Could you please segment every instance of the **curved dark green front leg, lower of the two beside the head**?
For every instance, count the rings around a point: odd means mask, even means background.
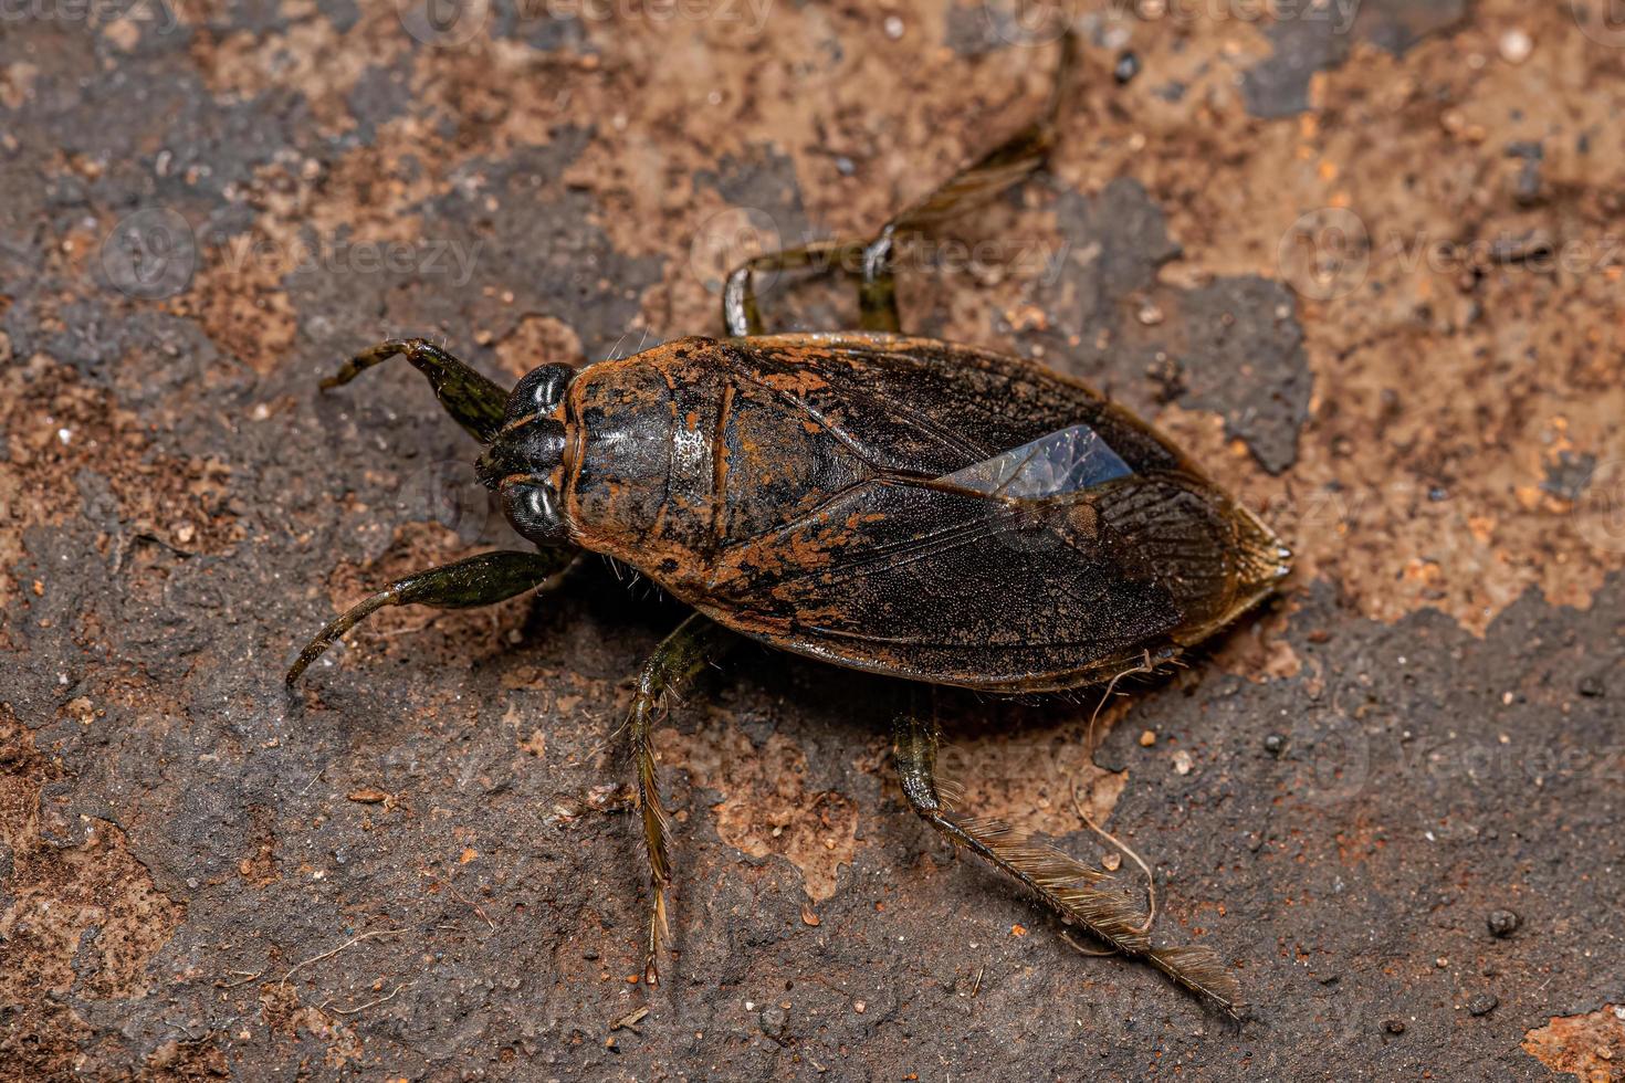
[[[533,586],[541,586],[546,580],[567,568],[574,559],[574,549],[548,549],[541,552],[500,549],[408,575],[405,580],[395,580],[317,632],[315,638],[299,651],[299,658],[288,669],[284,684],[292,692],[294,684],[310,667],[310,662],[322,658],[327,648],[333,646],[341,635],[385,606],[432,606],[436,609],[494,606],[496,602],[523,594]]]

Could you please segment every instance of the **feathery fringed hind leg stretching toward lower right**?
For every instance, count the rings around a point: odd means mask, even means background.
[[[946,807],[936,778],[938,729],[904,716],[894,727],[897,779],[910,807],[957,846],[1014,877],[1063,919],[1112,948],[1146,958],[1180,986],[1240,1016],[1240,986],[1207,947],[1152,948],[1139,904],[1108,874],[1045,846],[1011,825]]]

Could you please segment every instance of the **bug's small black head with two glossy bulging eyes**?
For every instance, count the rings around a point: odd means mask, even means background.
[[[559,507],[564,477],[564,391],[575,370],[569,365],[533,369],[509,395],[502,427],[476,469],[479,481],[499,494],[502,513],[520,537],[538,546],[569,542],[569,524]]]

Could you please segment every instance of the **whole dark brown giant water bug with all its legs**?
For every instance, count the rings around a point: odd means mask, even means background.
[[[543,365],[512,391],[422,339],[388,341],[323,383],[405,356],[486,445],[479,476],[536,550],[385,586],[312,640],[289,688],[382,606],[492,604],[583,550],[694,607],[644,666],[629,719],[653,895],[650,981],[671,882],[650,729],[736,636],[915,682],[1053,692],[1176,658],[1287,572],[1276,534],[1128,411],[1030,362],[899,333],[894,242],[1032,172],[1053,114],[874,239],[741,266],[723,294],[728,338],[580,372]],[[764,334],[752,276],[819,266],[856,268],[863,330]],[[1121,882],[947,809],[936,740],[934,726],[899,719],[897,770],[915,812],[1108,948],[1240,1013],[1212,950],[1155,948]]]

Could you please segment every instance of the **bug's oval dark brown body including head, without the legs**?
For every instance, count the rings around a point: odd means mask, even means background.
[[[855,669],[1094,684],[1206,638],[1282,570],[1274,534],[1162,437],[1014,357],[694,338],[546,386],[481,464],[523,536]]]

